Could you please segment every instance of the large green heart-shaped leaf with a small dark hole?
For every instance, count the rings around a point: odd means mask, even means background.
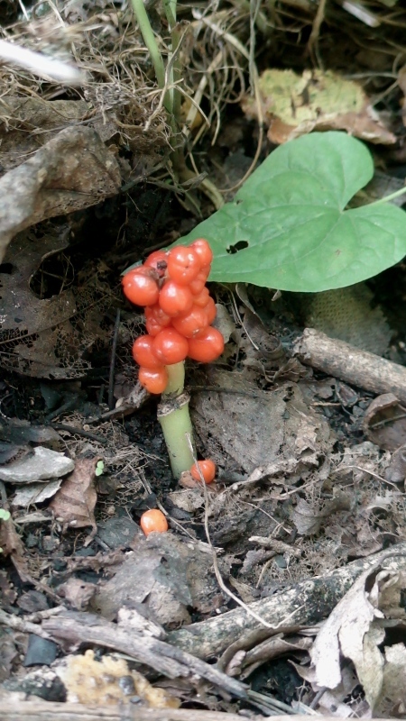
[[[180,242],[208,239],[210,280],[309,292],[351,286],[406,254],[399,207],[345,210],[373,175],[362,142],[313,132],[273,151],[231,203]]]

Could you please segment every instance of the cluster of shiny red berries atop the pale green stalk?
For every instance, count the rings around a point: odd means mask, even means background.
[[[139,381],[150,393],[168,383],[166,366],[189,357],[203,363],[224,350],[223,336],[211,324],[216,305],[206,281],[213,253],[203,238],[171,251],[155,251],[123,278],[125,296],[145,307],[148,333],[136,339],[133,357]]]

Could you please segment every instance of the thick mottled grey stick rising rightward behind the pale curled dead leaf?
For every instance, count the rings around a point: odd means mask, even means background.
[[[406,552],[406,543],[394,546],[392,554],[395,552]],[[250,608],[273,628],[280,626],[283,619],[293,612],[296,613],[294,625],[317,624],[329,616],[364,570],[387,557],[388,552],[375,553],[367,560],[354,561],[324,576],[300,581],[291,589],[275,593],[271,598],[254,601]],[[399,570],[406,568],[404,557],[393,563]],[[223,653],[238,635],[247,634],[258,627],[252,616],[248,616],[241,608],[235,608],[222,616],[171,631],[167,640],[194,656],[210,658]]]

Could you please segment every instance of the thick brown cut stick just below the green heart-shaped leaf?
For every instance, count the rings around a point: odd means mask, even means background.
[[[302,363],[329,376],[372,393],[394,393],[401,403],[406,403],[406,368],[391,360],[328,338],[313,328],[306,328],[293,351]]]

